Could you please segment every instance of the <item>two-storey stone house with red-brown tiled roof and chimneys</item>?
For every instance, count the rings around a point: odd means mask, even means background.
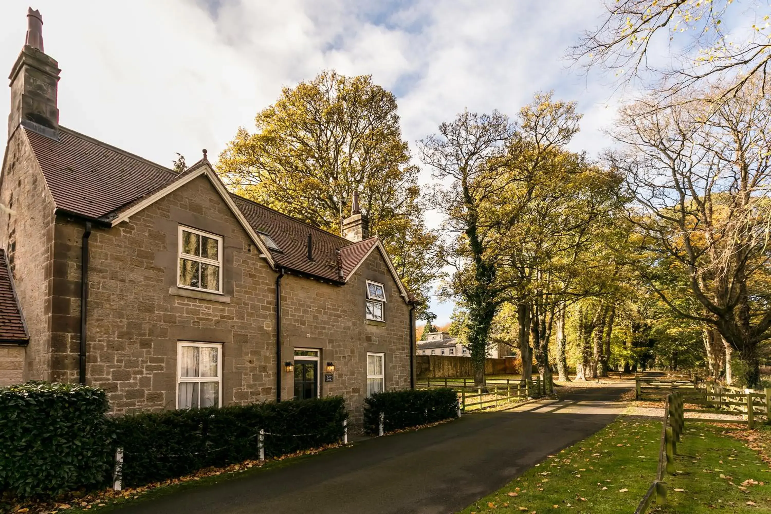
[[[0,175],[0,383],[96,385],[116,413],[343,395],[352,422],[413,385],[415,300],[356,200],[338,237],[230,193],[206,150],[176,173],[59,125],[58,63],[28,22]]]

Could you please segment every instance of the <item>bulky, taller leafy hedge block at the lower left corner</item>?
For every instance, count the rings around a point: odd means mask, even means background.
[[[0,388],[0,492],[28,497],[102,485],[112,463],[99,388],[28,382]]]

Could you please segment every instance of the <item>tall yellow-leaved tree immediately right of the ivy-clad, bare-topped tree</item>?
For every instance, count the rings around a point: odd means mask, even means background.
[[[517,307],[523,379],[530,378],[535,358],[547,387],[557,314],[585,294],[584,283],[575,279],[586,272],[620,182],[585,154],[566,149],[580,119],[575,102],[537,93],[520,110],[507,145],[509,186],[498,199],[500,207],[490,209],[500,216],[500,273],[509,286],[508,301]]]

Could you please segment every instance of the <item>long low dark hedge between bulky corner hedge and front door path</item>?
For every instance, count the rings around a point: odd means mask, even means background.
[[[266,458],[332,444],[342,438],[347,416],[342,397],[125,415],[114,422],[123,483],[258,459],[260,428]]]

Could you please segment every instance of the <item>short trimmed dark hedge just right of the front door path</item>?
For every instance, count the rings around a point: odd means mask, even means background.
[[[378,433],[381,412],[385,432],[454,418],[457,401],[456,391],[450,388],[377,393],[364,401],[364,430]]]

